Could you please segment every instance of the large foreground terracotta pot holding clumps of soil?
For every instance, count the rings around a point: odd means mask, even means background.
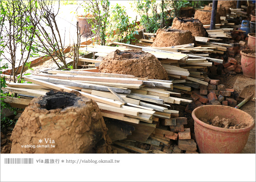
[[[237,123],[246,122],[249,126],[240,129],[228,129],[212,126],[200,120],[201,118],[213,119],[215,116],[233,119]],[[192,117],[195,121],[196,143],[200,153],[203,154],[241,153],[248,140],[250,130],[255,126],[255,121],[251,115],[229,106],[197,107],[193,110]]]

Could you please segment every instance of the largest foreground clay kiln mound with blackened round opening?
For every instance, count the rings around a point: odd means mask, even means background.
[[[16,123],[11,140],[11,153],[111,151],[98,105],[79,92],[50,91],[34,98]]]

